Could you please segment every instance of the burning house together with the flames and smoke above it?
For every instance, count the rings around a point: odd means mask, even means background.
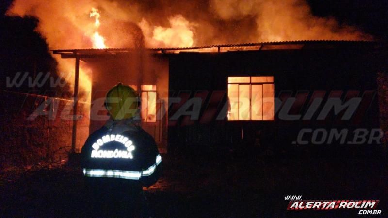
[[[376,74],[386,72],[386,44],[378,37],[302,0],[191,6],[17,0],[7,10],[39,18],[36,31],[85,103],[73,113],[90,111],[90,121],[73,122],[73,150],[108,119],[103,98],[118,82],[138,91],[141,125],[163,151],[380,141]],[[223,44],[252,41],[267,43]]]

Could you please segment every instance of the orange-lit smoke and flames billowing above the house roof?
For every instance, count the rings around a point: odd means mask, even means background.
[[[92,8],[99,13],[98,26]],[[313,16],[304,0],[15,0],[7,15],[37,17],[36,31],[49,49],[92,48],[96,32],[111,48],[372,39],[334,18]],[[61,71],[74,72],[73,60],[55,58]],[[87,71],[81,67],[86,91],[91,86]]]

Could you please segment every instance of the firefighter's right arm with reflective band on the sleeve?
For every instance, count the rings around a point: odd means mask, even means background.
[[[155,184],[162,175],[162,156],[159,154],[155,141],[152,139],[149,143],[140,179],[145,187]]]

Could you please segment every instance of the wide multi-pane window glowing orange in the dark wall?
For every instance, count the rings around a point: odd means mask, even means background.
[[[274,120],[274,77],[228,77],[228,120]]]

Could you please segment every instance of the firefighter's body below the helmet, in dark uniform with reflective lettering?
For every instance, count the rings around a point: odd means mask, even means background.
[[[161,160],[155,141],[140,127],[102,127],[90,135],[81,167],[92,215],[131,217],[140,211],[142,187],[159,178]]]

